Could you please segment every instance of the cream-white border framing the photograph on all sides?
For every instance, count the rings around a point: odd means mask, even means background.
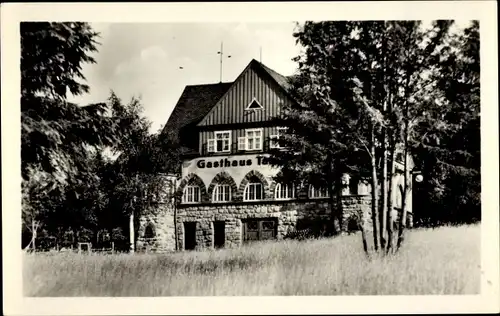
[[[498,42],[494,1],[258,3],[2,3],[2,251],[6,315],[349,314],[498,312]],[[479,20],[481,39],[481,294],[27,298],[22,295],[20,21],[290,22]],[[466,254],[464,254],[466,255]]]

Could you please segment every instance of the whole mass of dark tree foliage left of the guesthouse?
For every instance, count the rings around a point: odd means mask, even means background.
[[[23,230],[33,248],[41,229],[64,240],[66,231],[96,238],[123,226],[132,210],[157,202],[159,172],[175,156],[148,133],[140,100],[67,102],[89,91],[82,65],[95,62],[97,37],[87,23],[21,23]]]

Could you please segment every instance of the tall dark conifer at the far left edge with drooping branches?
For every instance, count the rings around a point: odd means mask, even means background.
[[[30,210],[23,212],[25,222],[42,216],[35,214],[41,196],[63,194],[70,182],[81,181],[89,148],[115,139],[105,104],[80,107],[66,99],[89,89],[81,67],[95,62],[90,54],[97,36],[87,23],[21,23],[21,171],[23,209]]]

